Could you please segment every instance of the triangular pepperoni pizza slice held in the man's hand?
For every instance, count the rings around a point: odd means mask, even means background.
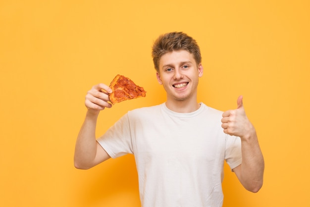
[[[115,76],[110,84],[110,88],[112,93],[108,96],[111,104],[145,97],[147,93],[142,87],[137,86],[132,80],[122,75]]]

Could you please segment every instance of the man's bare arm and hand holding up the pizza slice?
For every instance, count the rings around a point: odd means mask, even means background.
[[[101,89],[106,92],[102,92]],[[100,111],[105,107],[112,107],[112,105],[107,102],[109,100],[108,93],[111,92],[112,90],[108,86],[98,84],[88,91],[86,95],[85,106],[88,110],[77,137],[74,152],[74,166],[76,168],[89,169],[110,158],[96,141],[95,134]]]

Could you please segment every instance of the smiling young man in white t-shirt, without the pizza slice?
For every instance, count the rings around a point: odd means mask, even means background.
[[[94,86],[86,96],[75,166],[87,169],[110,157],[134,154],[143,207],[221,207],[224,160],[247,190],[258,192],[264,161],[242,96],[237,109],[224,113],[197,102],[204,71],[200,49],[182,32],[160,36],[152,54],[166,102],[128,111],[96,140],[99,112],[112,105],[111,89]]]

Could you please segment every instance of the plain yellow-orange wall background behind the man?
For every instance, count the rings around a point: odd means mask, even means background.
[[[151,47],[193,36],[203,55],[199,101],[237,97],[257,128],[264,185],[249,193],[225,165],[224,207],[310,206],[309,0],[1,0],[0,206],[138,207],[134,158],[73,166],[95,84],[130,77],[147,97],[102,112],[100,136],[126,111],[162,103]]]

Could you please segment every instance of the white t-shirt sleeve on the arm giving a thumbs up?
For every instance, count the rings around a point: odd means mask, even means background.
[[[241,139],[236,136],[226,136],[225,160],[234,169],[242,162]]]

